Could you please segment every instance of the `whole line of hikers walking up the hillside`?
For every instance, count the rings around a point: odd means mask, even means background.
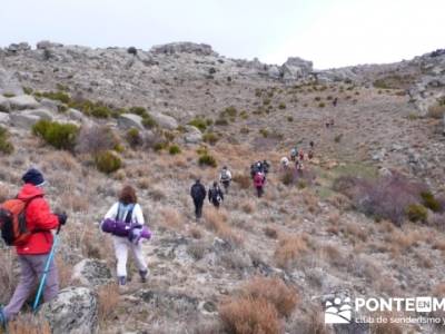
[[[313,148],[314,144],[310,143],[310,146]],[[299,151],[298,155],[293,149],[290,158],[295,160],[297,156],[299,156],[298,159],[303,160],[303,151]],[[270,165],[267,160],[258,160],[250,166],[250,177],[258,197],[264,194],[269,169]],[[191,186],[190,196],[194,200],[197,219],[202,216],[206,198],[218,209],[225,200],[225,196],[229,193],[233,176],[227,166],[222,167],[218,179],[219,181],[215,180],[208,191],[206,191],[199,178]],[[39,288],[32,305],[33,312],[39,308],[41,294],[43,302],[49,302],[59,292],[55,253],[59,232],[61,226],[67,223],[68,217],[66,213],[51,212],[44,198],[46,180],[41,171],[36,168],[29,169],[22,176],[22,181],[23,186],[17,197],[0,205],[1,237],[6,245],[16,247],[21,268],[19,284],[11,299],[4,307],[0,305],[0,326],[3,327],[6,327],[7,322],[17,316],[37,283],[39,283]],[[221,184],[224,191],[219,184]],[[135,257],[141,282],[145,283],[149,276],[140,243],[142,239],[151,238],[151,232],[145,223],[142,208],[138,204],[135,188],[128,185],[123,186],[117,202],[109,208],[99,224],[103,233],[112,236],[119,286],[127,284],[129,250]],[[57,233],[53,234],[52,230],[57,230]]]

